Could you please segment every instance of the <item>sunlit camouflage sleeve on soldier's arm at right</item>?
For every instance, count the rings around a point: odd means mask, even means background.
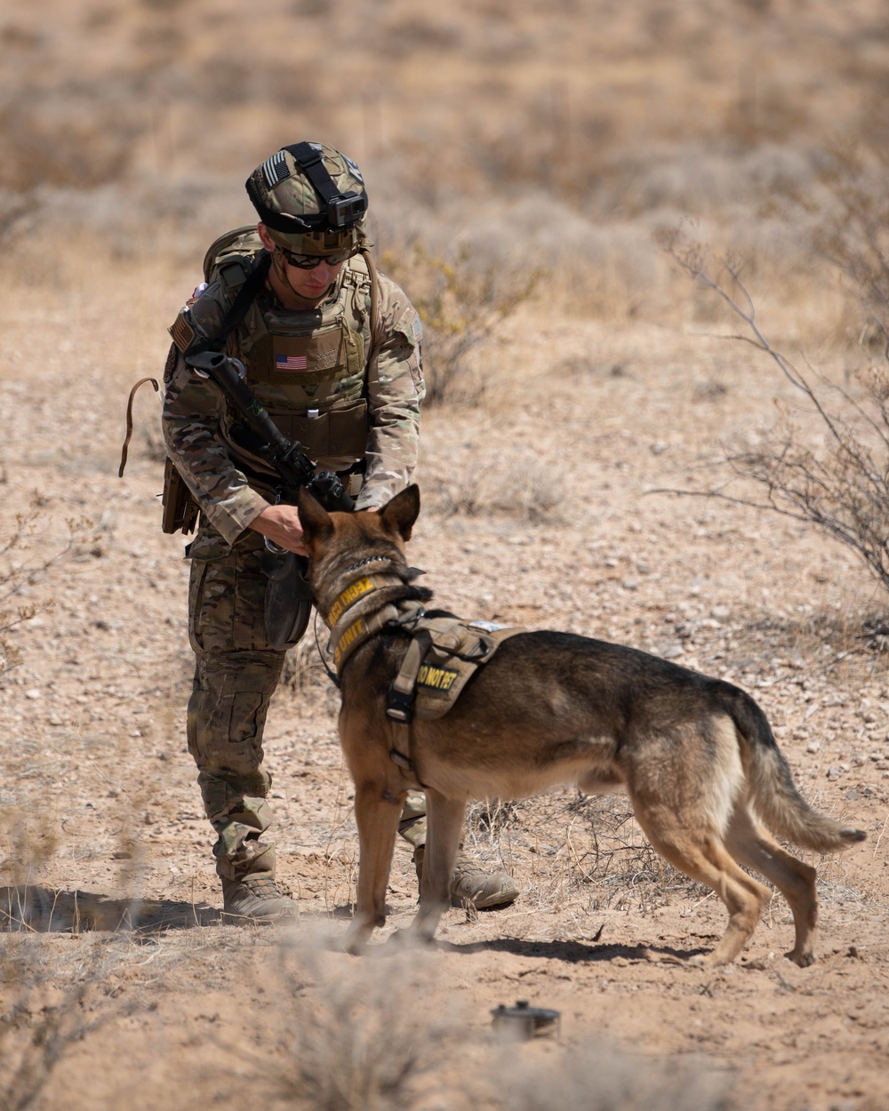
[[[382,506],[410,482],[417,466],[420,402],[426,394],[422,323],[407,294],[380,276],[379,341],[368,362],[367,472],[357,509]]]

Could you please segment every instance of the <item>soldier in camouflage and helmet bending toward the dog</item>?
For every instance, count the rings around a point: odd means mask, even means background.
[[[422,326],[404,293],[376,272],[367,250],[367,193],[358,167],[321,143],[286,147],[258,167],[247,191],[260,223],[208,252],[209,284],[170,328],[163,429],[197,536],[189,633],[196,655],[188,744],[199,774],[222,881],[223,910],[241,921],[290,919],[274,880],[271,777],[262,730],[287,648],[304,630],[270,635],[267,539],[306,554],[293,506],[212,381],[186,362],[199,350],[239,359],[246,381],[289,439],[336,471],[358,509],[374,509],[410,481],[417,462]],[[164,489],[164,504],[173,497]],[[193,503],[197,503],[194,506]],[[189,512],[180,524],[189,529]],[[268,560],[268,557],[264,557]],[[282,642],[283,639],[283,642]],[[412,794],[402,833],[418,873],[426,839],[422,795]],[[455,897],[477,907],[511,902],[512,878],[461,859]]]

